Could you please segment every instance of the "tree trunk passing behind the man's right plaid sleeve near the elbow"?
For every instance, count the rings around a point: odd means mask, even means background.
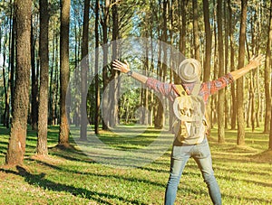
[[[218,1],[218,30],[219,30],[219,76],[224,75],[224,48],[223,48],[223,28],[222,28],[222,0]],[[225,104],[225,89],[219,90],[218,101],[218,124],[219,124],[219,143],[225,143],[224,129],[224,104]]]

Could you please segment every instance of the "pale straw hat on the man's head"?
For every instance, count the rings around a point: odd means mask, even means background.
[[[186,59],[180,63],[178,72],[182,82],[198,82],[201,74],[201,64],[195,59]]]

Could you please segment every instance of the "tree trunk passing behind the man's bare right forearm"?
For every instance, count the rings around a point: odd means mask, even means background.
[[[238,69],[244,67],[245,42],[246,42],[246,23],[248,0],[242,0],[242,11],[240,20]],[[244,77],[237,80],[237,116],[238,116],[238,145],[245,144],[245,118],[244,118]]]

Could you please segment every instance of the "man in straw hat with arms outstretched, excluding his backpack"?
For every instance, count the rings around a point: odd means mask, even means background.
[[[261,55],[253,57],[244,68],[232,71],[219,79],[200,84],[201,66],[199,61],[187,59],[180,63],[178,74],[180,75],[181,86],[186,91],[187,95],[191,95],[196,85],[199,85],[198,96],[203,98],[204,104],[206,105],[210,95],[213,95],[219,91],[219,89],[225,88],[234,80],[244,76],[249,70],[256,69],[263,61],[264,58]],[[116,60],[113,62],[113,68],[115,70],[120,70],[122,73],[127,73],[128,76],[146,84],[149,89],[154,89],[170,98],[171,101],[174,101],[180,96],[178,85],[160,82],[158,79],[148,78],[137,72],[131,71],[127,61],[122,63],[121,61]],[[165,191],[165,204],[174,203],[181,174],[190,157],[198,163],[204,182],[206,182],[208,186],[209,196],[213,204],[221,204],[221,194],[212,169],[211,154],[205,132],[199,133],[199,140],[195,144],[187,143],[186,139],[178,140],[179,137],[177,133],[178,132],[175,133],[176,137],[172,147],[170,178]]]

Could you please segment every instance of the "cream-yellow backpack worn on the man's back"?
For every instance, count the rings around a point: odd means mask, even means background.
[[[181,85],[176,85],[176,89],[179,97],[173,104],[175,136],[180,143],[199,144],[204,139],[207,127],[204,100],[198,95],[200,84],[195,84],[190,95]]]

